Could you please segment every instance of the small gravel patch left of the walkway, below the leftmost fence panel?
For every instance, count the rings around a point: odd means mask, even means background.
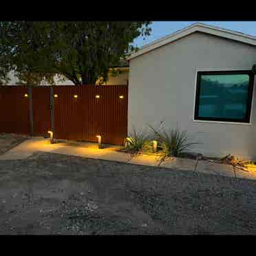
[[[16,147],[24,140],[28,140],[28,136],[17,134],[0,134],[0,155],[6,151]]]

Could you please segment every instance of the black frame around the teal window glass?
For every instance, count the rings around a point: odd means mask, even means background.
[[[248,98],[246,104],[246,116],[243,119],[237,118],[211,118],[211,117],[201,117],[198,116],[199,103],[200,103],[200,82],[202,75],[222,75],[222,74],[248,74],[249,76],[249,88],[248,88]],[[250,123],[250,114],[252,109],[253,101],[253,85],[254,85],[254,74],[251,70],[228,70],[228,71],[198,71],[196,80],[196,90],[195,90],[195,111],[194,120],[205,120],[205,121],[217,121],[217,122],[242,122]]]

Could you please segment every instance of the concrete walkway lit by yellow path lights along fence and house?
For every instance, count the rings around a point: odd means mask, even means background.
[[[171,158],[162,162],[160,158],[156,156],[145,154],[132,156],[129,153],[118,152],[116,151],[117,149],[120,149],[120,147],[109,146],[104,149],[98,149],[98,144],[89,142],[60,142],[50,144],[49,138],[34,137],[30,140],[25,140],[25,142],[22,142],[17,147],[14,147],[1,155],[0,160],[20,160],[32,156],[36,151],[43,151],[70,156],[81,156],[85,158],[126,162],[128,164],[142,164],[175,170],[198,171],[200,173],[256,180],[256,170],[234,170],[233,167],[227,164],[219,164],[205,160],[197,162],[196,160],[185,158]]]

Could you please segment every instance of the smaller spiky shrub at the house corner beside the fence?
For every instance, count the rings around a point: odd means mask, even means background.
[[[125,149],[131,151],[131,153],[138,153],[142,149],[148,148],[149,143],[149,134],[146,131],[138,132],[133,128],[125,141]]]

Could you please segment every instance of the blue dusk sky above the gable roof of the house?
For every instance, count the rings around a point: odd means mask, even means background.
[[[145,40],[138,37],[134,40],[134,46],[141,47],[196,22],[256,36],[256,21],[153,21],[151,35],[147,36]]]

